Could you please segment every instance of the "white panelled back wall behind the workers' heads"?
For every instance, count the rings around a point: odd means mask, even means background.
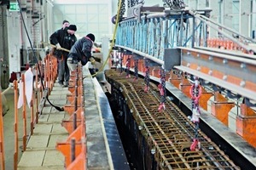
[[[112,33],[111,11],[111,0],[55,0],[53,7],[54,26],[51,32],[60,29],[63,20],[68,20],[70,24],[77,26],[77,37],[84,37],[88,33],[93,33],[96,36],[96,42],[100,42],[102,37]]]

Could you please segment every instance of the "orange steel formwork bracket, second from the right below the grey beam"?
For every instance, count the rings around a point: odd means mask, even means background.
[[[229,102],[228,99],[225,99],[218,92],[214,93],[214,101],[211,105],[212,115],[226,126],[229,125],[229,112],[234,106],[234,102]]]

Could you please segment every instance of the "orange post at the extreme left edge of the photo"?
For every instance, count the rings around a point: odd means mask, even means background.
[[[2,91],[0,91],[0,163],[1,169],[5,169],[4,163],[4,139],[3,139],[3,102],[2,102]]]

